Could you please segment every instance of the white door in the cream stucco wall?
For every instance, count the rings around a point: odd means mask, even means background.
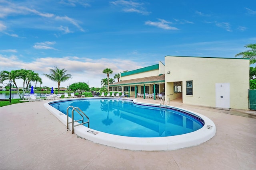
[[[216,107],[230,108],[230,83],[216,83]]]

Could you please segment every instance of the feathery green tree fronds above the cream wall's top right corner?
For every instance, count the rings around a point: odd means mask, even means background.
[[[250,49],[236,54],[235,57],[242,55],[243,59],[250,59],[250,64],[256,63],[256,44],[246,44],[244,47]]]

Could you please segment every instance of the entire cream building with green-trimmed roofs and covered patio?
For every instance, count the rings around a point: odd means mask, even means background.
[[[248,109],[249,59],[165,56],[165,65],[121,73],[112,91],[182,98],[184,104]]]

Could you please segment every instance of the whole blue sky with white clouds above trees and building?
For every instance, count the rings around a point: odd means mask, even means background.
[[[42,76],[57,66],[73,77],[61,87],[101,87],[105,68],[113,78],[166,55],[234,58],[256,42],[255,21],[255,0],[0,0],[0,70],[57,87]]]

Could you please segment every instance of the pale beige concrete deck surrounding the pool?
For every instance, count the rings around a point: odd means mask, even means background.
[[[137,99],[160,103],[160,100]],[[227,111],[172,101],[171,106],[209,117],[216,125],[216,135],[201,145],[185,149],[134,151],[92,143],[71,134],[44,108],[45,102],[0,107],[0,169],[254,170],[256,167],[256,119],[248,117],[255,117],[255,111]]]

